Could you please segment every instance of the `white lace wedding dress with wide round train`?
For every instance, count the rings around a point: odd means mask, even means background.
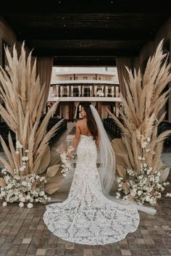
[[[110,244],[138,228],[138,210],[112,202],[101,191],[93,136],[80,135],[68,198],[46,205],[43,220],[61,239],[78,244]]]

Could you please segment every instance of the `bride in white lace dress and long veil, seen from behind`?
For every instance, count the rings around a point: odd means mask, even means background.
[[[138,210],[154,214],[153,207],[109,195],[115,178],[115,156],[101,118],[90,103],[83,103],[75,125],[70,157],[77,162],[68,197],[46,205],[43,220],[61,239],[78,244],[110,244],[125,238],[139,225]],[[97,149],[99,170],[96,167]]]

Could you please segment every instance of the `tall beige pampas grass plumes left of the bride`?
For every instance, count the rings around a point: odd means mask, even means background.
[[[51,176],[53,176],[54,181],[57,180],[56,187],[53,190],[56,191],[63,178],[62,173],[59,172],[59,165],[62,162],[57,152],[50,152],[49,140],[64,119],[54,125],[49,132],[46,131],[46,128],[59,101],[55,102],[39,126],[46,100],[44,94],[46,84],[41,85],[39,75],[36,76],[36,60],[32,61],[31,52],[26,57],[24,43],[22,44],[20,57],[17,56],[15,46],[12,55],[8,48],[5,49],[5,52],[8,65],[5,69],[0,67],[0,96],[4,103],[0,104],[0,114],[9,128],[14,131],[16,141],[20,141],[23,148],[18,149],[19,154],[16,154],[17,149],[12,143],[10,133],[8,138],[9,149],[0,136],[1,146],[7,156],[7,160],[0,156],[0,161],[7,168],[10,175],[14,176],[14,169],[20,170],[22,165],[23,152],[25,154],[25,150],[28,151],[28,164],[25,170],[20,171],[20,177],[29,176],[31,173],[41,173],[41,176],[48,176],[47,173],[49,172],[47,170],[55,166],[56,169],[53,169],[54,172],[51,172]],[[1,181],[0,186],[2,185],[4,186],[4,181]],[[49,192],[48,188],[49,185],[46,192]]]

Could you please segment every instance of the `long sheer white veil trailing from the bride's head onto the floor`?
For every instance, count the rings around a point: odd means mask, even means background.
[[[111,196],[109,193],[114,186],[115,181],[115,154],[114,150],[112,149],[112,145],[109,141],[109,138],[107,136],[107,133],[104,129],[104,125],[101,121],[101,117],[99,116],[99,113],[96,110],[96,107],[93,107],[93,105],[90,105],[91,112],[93,114],[93,117],[96,121],[96,125],[99,131],[100,141],[99,141],[99,152],[100,152],[100,166],[99,166],[99,178],[101,181],[101,187],[103,194],[110,200],[117,202],[121,205],[124,205],[125,207],[133,209],[135,207],[137,210],[141,210],[143,212],[149,213],[154,215],[157,210],[153,207],[139,205],[136,202],[132,202],[129,200],[122,200],[117,199],[114,196]]]

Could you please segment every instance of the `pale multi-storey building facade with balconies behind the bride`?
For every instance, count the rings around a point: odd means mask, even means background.
[[[91,102],[101,119],[108,117],[106,107],[118,115],[122,108],[116,67],[53,67],[48,107],[60,98],[54,115],[80,118],[81,102]]]

